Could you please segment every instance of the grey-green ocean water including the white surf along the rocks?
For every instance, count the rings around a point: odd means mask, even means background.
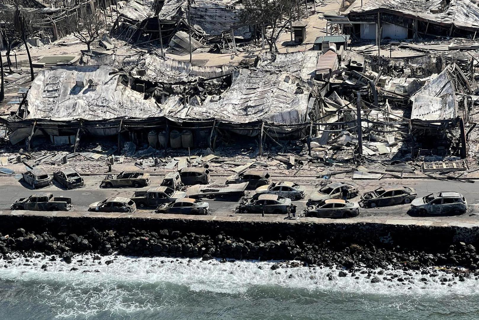
[[[479,280],[460,282],[441,270],[437,277],[394,271],[409,279],[372,284],[367,274],[357,273],[356,280],[337,277],[338,270],[330,268],[271,270],[274,262],[76,256],[67,264],[48,259],[0,260],[0,319],[479,318]],[[109,260],[114,262],[107,265]],[[443,278],[450,281],[442,284]]]

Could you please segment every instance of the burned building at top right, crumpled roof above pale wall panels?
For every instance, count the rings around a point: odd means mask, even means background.
[[[471,0],[371,0],[348,17],[353,24],[347,32],[361,39],[374,40],[378,32],[380,39],[475,38],[479,30],[479,8]]]

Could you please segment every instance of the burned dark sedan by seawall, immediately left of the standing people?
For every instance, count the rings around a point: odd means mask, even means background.
[[[275,194],[260,194],[244,200],[238,206],[239,213],[288,214],[296,213],[296,206],[291,199]]]

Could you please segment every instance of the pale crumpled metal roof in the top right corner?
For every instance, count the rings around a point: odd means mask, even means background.
[[[476,1],[451,0],[447,5],[444,3],[442,0],[369,0],[351,12],[363,13],[386,9],[437,24],[449,24],[468,30],[479,29],[479,7]]]

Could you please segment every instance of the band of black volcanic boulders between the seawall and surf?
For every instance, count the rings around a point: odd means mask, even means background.
[[[451,273],[453,278],[462,281],[464,277],[479,276],[479,254],[472,244],[457,242],[433,251],[400,248],[399,246],[347,243],[344,241],[294,239],[278,235],[274,240],[245,240],[231,237],[223,232],[217,235],[184,233],[171,229],[158,232],[96,230],[83,234],[56,234],[34,232],[18,228],[11,235],[0,234],[0,256],[5,262],[9,257],[22,253],[32,257],[41,253],[72,262],[75,254],[93,254],[98,256],[123,255],[136,257],[202,258],[209,261],[217,258],[220,262],[233,260],[284,261],[271,266],[272,270],[294,266],[331,267],[336,272],[329,278],[351,276],[356,273],[368,273],[371,282],[381,279],[395,279],[407,282],[409,279],[395,276],[394,270],[411,271],[416,274],[437,276],[433,266],[445,266],[441,269]],[[55,258],[57,257],[57,258]],[[99,258],[100,259],[100,258]],[[291,264],[286,261],[301,261]],[[112,261],[113,262],[113,261]],[[8,265],[4,265],[8,267]],[[381,269],[380,271],[372,271]],[[367,271],[370,270],[370,271]],[[388,272],[389,271],[389,272]],[[391,273],[391,274],[389,274]],[[384,279],[383,279],[384,278]],[[462,279],[462,280],[461,280]]]

